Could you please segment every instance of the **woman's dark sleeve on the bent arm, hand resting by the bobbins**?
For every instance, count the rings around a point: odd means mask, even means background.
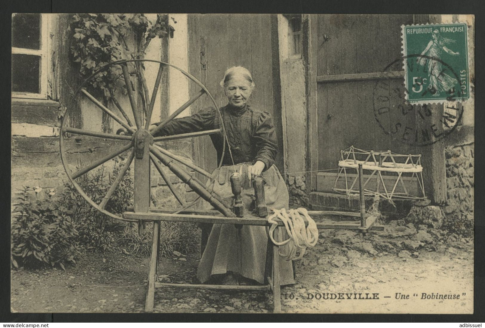
[[[277,153],[275,126],[271,114],[267,111],[260,113],[253,138],[258,149],[253,164],[260,160],[264,163],[264,171],[266,171],[275,163]]]

